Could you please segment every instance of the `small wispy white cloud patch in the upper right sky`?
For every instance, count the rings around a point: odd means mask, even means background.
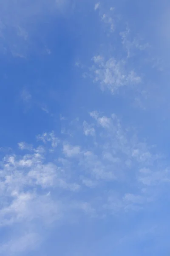
[[[116,8],[102,2],[96,8],[101,39],[91,55],[92,64],[88,63],[85,68],[84,63],[81,67],[83,77],[92,78],[102,91],[119,94],[125,101],[133,98],[133,107],[146,110],[155,91],[145,71],[163,70],[162,61],[153,54],[152,45],[140,33],[130,29]]]

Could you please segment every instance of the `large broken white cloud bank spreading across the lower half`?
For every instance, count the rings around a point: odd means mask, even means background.
[[[170,182],[170,172],[155,148],[140,141],[116,114],[104,116],[92,111],[89,116],[88,122],[68,123],[74,132],[67,142],[60,138],[56,146],[54,131],[44,133],[38,136],[43,147],[18,143],[22,155],[3,158],[1,226],[21,225],[22,233],[30,225],[31,233],[38,236],[36,241],[41,241],[45,234],[43,228],[40,232],[39,224],[50,228],[61,220],[81,218],[82,214],[102,218],[142,211],[161,197]],[[94,139],[88,144],[87,134],[91,134],[85,133],[87,127],[95,130]],[[77,144],[73,145],[74,141]],[[34,248],[36,243],[32,241],[30,234],[28,243]],[[17,248],[14,240],[6,242],[1,250],[8,251],[7,244],[13,242]],[[21,249],[27,250],[27,243]]]

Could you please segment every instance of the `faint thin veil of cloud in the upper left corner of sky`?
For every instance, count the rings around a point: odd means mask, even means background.
[[[1,1],[0,52],[19,58],[27,58],[31,52],[49,54],[50,51],[41,36],[39,40],[42,47],[39,45],[38,49],[36,33],[40,32],[40,24],[43,27],[44,17],[47,20],[64,13],[68,3],[67,0]],[[43,33],[43,28],[41,32]]]

